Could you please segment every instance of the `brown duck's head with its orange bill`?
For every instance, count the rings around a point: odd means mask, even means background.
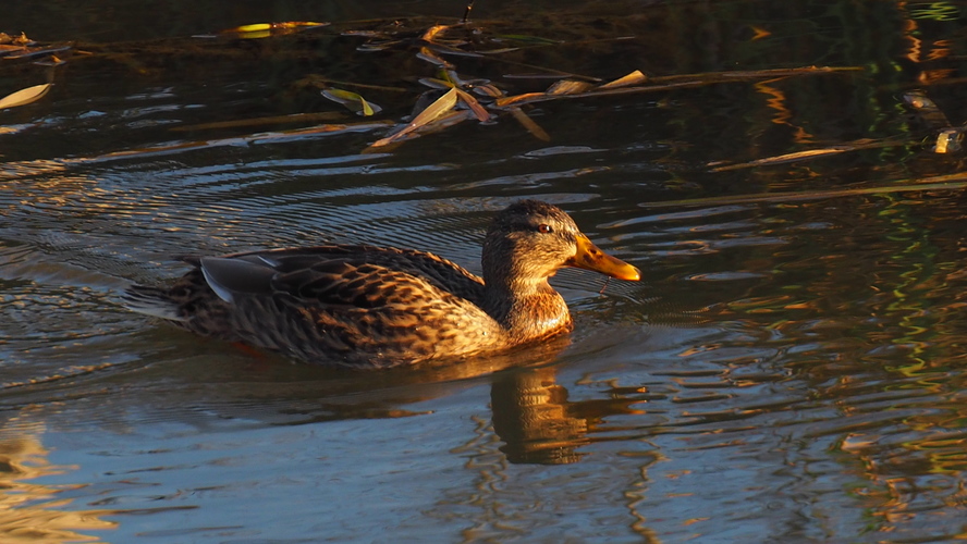
[[[564,210],[538,200],[513,203],[494,218],[483,242],[483,280],[511,287],[538,284],[562,267],[640,280],[635,267],[598,249]]]

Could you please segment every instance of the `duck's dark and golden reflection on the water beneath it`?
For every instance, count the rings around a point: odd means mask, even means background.
[[[184,396],[183,404],[207,404],[225,418],[301,425],[412,417],[420,413],[414,405],[489,384],[493,432],[504,443],[500,450],[510,462],[575,462],[582,458],[577,448],[589,442],[587,413],[598,418],[611,411],[624,413],[627,407],[567,400],[556,372],[570,346],[564,336],[509,354],[375,372],[291,364],[276,356],[241,351],[204,355],[183,363],[182,386],[166,392],[169,405],[158,409],[168,411],[171,403],[178,404],[170,395]],[[199,374],[199,369],[211,373]],[[171,371],[181,373],[178,368]],[[221,380],[225,383],[215,383]],[[147,396],[151,395],[142,395]]]

